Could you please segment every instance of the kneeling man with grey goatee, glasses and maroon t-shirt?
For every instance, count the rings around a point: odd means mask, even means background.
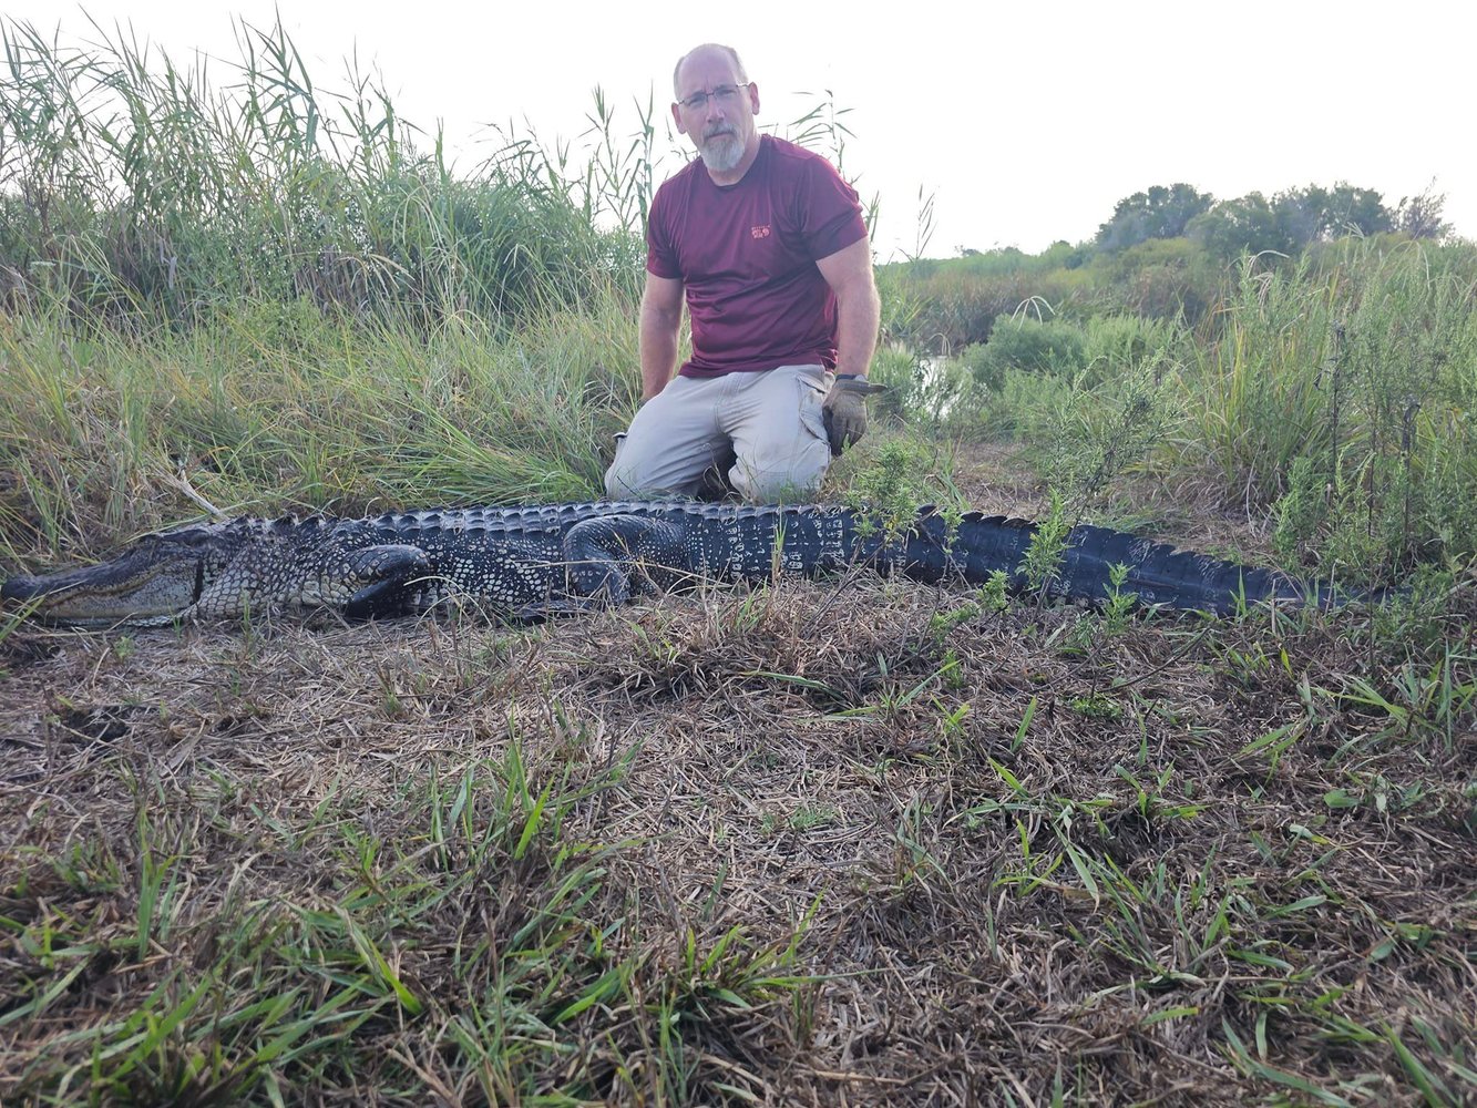
[[[731,47],[684,55],[674,84],[702,158],[651,201],[642,406],[606,492],[693,496],[722,467],[744,499],[793,502],[867,428],[880,310],[861,205],[829,161],[758,133],[759,87]],[[672,377],[684,300],[693,358]]]

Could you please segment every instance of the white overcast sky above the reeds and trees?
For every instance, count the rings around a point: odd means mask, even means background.
[[[239,59],[232,16],[276,13],[326,90],[343,59],[383,74],[402,117],[445,123],[470,168],[487,124],[578,140],[598,84],[634,133],[635,99],[671,100],[675,59],[736,46],[784,123],[829,89],[855,137],[845,168],[880,195],[879,260],[913,250],[933,196],[928,254],[1090,238],[1114,204],[1177,180],[1270,195],[1349,180],[1388,205],[1434,179],[1446,219],[1477,238],[1470,3],[585,3],[436,0],[0,0],[0,15],[64,40],[131,24],[186,62]],[[226,84],[229,65],[211,64]],[[808,92],[811,96],[799,93]]]

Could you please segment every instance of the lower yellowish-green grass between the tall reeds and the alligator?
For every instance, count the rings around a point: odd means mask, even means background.
[[[0,325],[0,555],[100,553],[222,513],[597,495],[634,403],[619,297],[508,334],[258,303],[151,341],[46,313]]]

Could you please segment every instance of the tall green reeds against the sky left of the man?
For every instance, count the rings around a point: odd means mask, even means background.
[[[510,139],[453,176],[440,134],[418,149],[425,136],[353,65],[346,93],[325,92],[281,24],[241,25],[225,86],[121,35],[77,47],[10,21],[0,37],[0,293],[12,304],[177,328],[244,300],[306,298],[434,324],[521,318],[603,284],[634,288],[640,273],[640,228],[603,228],[644,204],[589,198],[648,188],[629,160],[611,180],[570,179],[538,143]]]

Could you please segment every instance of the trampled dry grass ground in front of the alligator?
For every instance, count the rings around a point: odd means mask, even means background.
[[[12,634],[0,1101],[1477,1096],[1470,594],[972,601]]]

